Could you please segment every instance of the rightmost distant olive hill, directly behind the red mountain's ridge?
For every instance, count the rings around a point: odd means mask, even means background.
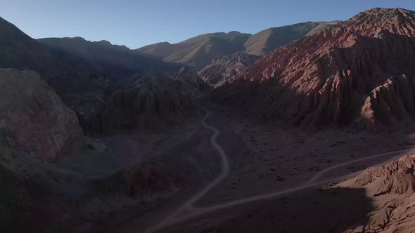
[[[317,33],[327,27],[336,25],[338,22],[301,22],[295,25],[265,29],[250,36],[250,39],[245,42],[245,53],[265,55],[291,41]]]

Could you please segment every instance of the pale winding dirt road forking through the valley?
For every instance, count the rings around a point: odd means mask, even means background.
[[[339,176],[339,177],[336,177],[336,178],[331,178],[329,180],[323,180],[323,181],[317,182],[324,174],[328,173],[329,171],[333,171],[336,168],[341,168],[343,166],[354,164],[354,163],[357,163],[357,162],[360,162],[360,161],[366,161],[366,160],[369,160],[369,159],[376,159],[378,157],[388,156],[387,160],[389,161],[390,159],[395,159],[396,157],[401,157],[403,154],[405,154],[407,152],[415,152],[415,148],[409,148],[409,149],[401,149],[401,150],[397,150],[397,151],[393,151],[393,152],[386,152],[386,153],[382,153],[382,154],[375,154],[375,155],[360,158],[360,159],[354,159],[352,161],[347,161],[347,162],[344,162],[344,163],[341,163],[341,164],[336,164],[334,166],[328,167],[328,168],[320,171],[316,175],[314,175],[307,182],[304,182],[303,184],[298,185],[296,187],[291,187],[291,188],[279,190],[279,191],[276,191],[276,192],[269,192],[267,194],[258,194],[258,195],[255,195],[253,197],[247,197],[247,198],[243,198],[243,199],[236,199],[234,201],[229,201],[229,202],[226,202],[226,203],[223,203],[223,204],[216,204],[216,205],[213,205],[213,206],[195,208],[193,205],[196,204],[196,202],[199,201],[205,194],[207,194],[210,191],[210,189],[212,189],[212,187],[215,187],[216,185],[219,184],[219,182],[224,180],[224,178],[226,178],[226,176],[229,174],[229,160],[226,157],[226,153],[224,152],[224,149],[217,143],[217,137],[218,137],[220,131],[217,128],[215,128],[213,126],[210,126],[206,123],[206,119],[208,119],[209,116],[210,116],[210,110],[206,109],[203,106],[200,106],[200,107],[202,107],[206,112],[206,114],[205,114],[205,116],[203,117],[203,120],[202,120],[203,126],[205,128],[210,129],[210,131],[214,132],[214,135],[212,135],[212,137],[210,138],[210,144],[212,145],[212,147],[214,147],[217,150],[217,152],[219,153],[219,155],[222,159],[222,171],[217,176],[217,178],[215,178],[215,180],[212,180],[212,182],[210,182],[204,189],[200,190],[200,192],[198,192],[196,195],[191,197],[191,199],[184,202],[184,204],[182,204],[179,208],[177,208],[176,211],[174,211],[173,213],[168,215],[168,217],[165,218],[164,220],[162,220],[161,222],[158,222],[157,225],[154,225],[153,227],[150,227],[150,228],[144,230],[143,233],[158,232],[161,229],[165,229],[165,227],[177,224],[179,222],[184,222],[185,220],[189,220],[191,218],[198,217],[198,216],[203,215],[205,213],[210,213],[212,211],[218,211],[218,210],[221,210],[221,209],[224,209],[224,208],[230,208],[230,207],[233,207],[233,206],[246,204],[246,203],[249,203],[249,202],[252,202],[252,201],[260,201],[260,200],[264,200],[264,199],[271,199],[271,198],[279,197],[281,195],[288,194],[288,193],[291,193],[291,192],[298,192],[302,189],[308,189],[308,188],[311,188],[311,187],[318,187],[318,186],[326,185],[326,184],[331,183],[331,182],[336,182],[336,181],[339,181],[339,180],[343,180],[344,178],[350,176],[350,174],[349,175],[342,175],[342,176]],[[381,164],[384,164],[384,163],[385,163],[385,161],[383,161]]]

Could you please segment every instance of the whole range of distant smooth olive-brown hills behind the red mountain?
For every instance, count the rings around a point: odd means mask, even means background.
[[[138,48],[136,51],[167,62],[179,62],[201,69],[212,62],[213,58],[236,52],[264,55],[290,41],[334,24],[336,22],[304,22],[270,28],[254,35],[235,31],[202,34],[177,44],[162,42]]]

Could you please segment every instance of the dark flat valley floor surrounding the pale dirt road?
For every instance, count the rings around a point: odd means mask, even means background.
[[[297,187],[325,168],[391,152],[339,166],[322,174],[314,182],[344,178],[368,166],[400,157],[411,151],[408,148],[414,147],[415,135],[410,128],[400,133],[378,134],[347,129],[317,132],[284,129],[255,124],[229,114],[231,111],[226,107],[219,107],[208,98],[198,102],[212,112],[208,124],[218,128],[221,133],[217,141],[226,152],[231,172],[196,203],[196,210],[193,211]],[[106,222],[108,228],[104,227],[104,232],[141,232],[158,225],[189,199],[192,193],[215,178],[215,174],[220,172],[220,158],[208,144],[211,135],[212,132],[200,128],[189,141],[167,153],[170,156],[177,153],[193,159],[197,169],[184,172],[180,169],[183,168],[181,161],[172,160],[167,154],[160,157],[165,164],[169,164],[173,173],[199,177],[203,182],[196,181],[198,185],[187,186],[182,190],[185,192],[178,192],[145,214],[134,215],[132,210],[128,220],[116,224]],[[399,152],[400,149],[408,150]],[[318,187],[324,183],[329,182],[322,182]],[[318,187],[204,213],[177,222],[160,232],[338,232],[355,224],[355,220],[364,221],[370,201],[364,197],[362,190],[316,190]],[[191,213],[192,210],[189,211]],[[182,215],[186,215],[186,211]]]

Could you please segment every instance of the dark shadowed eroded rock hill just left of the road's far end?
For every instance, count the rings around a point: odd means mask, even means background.
[[[106,135],[168,131],[191,120],[197,111],[176,81],[145,72],[132,76],[126,88],[83,102],[77,114],[88,135]]]

